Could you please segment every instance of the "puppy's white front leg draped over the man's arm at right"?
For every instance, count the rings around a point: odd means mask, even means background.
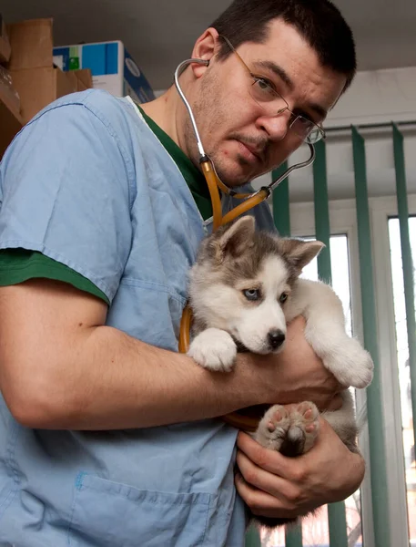
[[[305,337],[324,366],[344,386],[368,386],[374,365],[369,352],[345,332],[340,298],[329,285],[304,279],[295,292],[307,322]]]

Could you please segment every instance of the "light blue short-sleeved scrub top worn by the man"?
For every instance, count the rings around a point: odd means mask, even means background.
[[[224,209],[235,204],[227,198]],[[267,204],[255,215],[273,230]],[[0,249],[39,251],[84,275],[111,303],[107,325],[148,344],[178,350],[204,235],[176,163],[127,98],[88,90],[58,99],[0,164]],[[0,545],[239,547],[236,435],[220,419],[25,428],[0,395]]]

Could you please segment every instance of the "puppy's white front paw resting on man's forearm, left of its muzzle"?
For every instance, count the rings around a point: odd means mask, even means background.
[[[237,346],[228,332],[208,328],[192,341],[188,356],[208,370],[229,372],[236,360]]]

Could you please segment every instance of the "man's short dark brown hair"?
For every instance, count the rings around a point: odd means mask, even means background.
[[[269,23],[281,19],[293,26],[318,54],[323,67],[347,77],[350,86],[357,70],[354,39],[350,26],[330,0],[234,0],[212,23],[234,47],[244,42],[264,43]],[[219,59],[231,54],[223,42]]]

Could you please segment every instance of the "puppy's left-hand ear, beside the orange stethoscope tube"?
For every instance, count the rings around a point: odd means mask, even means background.
[[[238,258],[253,244],[255,221],[252,216],[244,216],[218,230],[216,238],[217,259],[222,262],[228,255]]]

